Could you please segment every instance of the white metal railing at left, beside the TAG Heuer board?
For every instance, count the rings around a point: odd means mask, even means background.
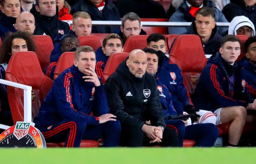
[[[20,88],[23,89],[23,93],[24,93],[24,121],[25,122],[31,122],[32,121],[32,109],[31,109],[31,91],[32,91],[32,87],[28,86],[28,85],[24,85],[24,84],[20,84],[20,83],[15,83],[12,81],[8,81],[8,80],[3,80],[0,79],[0,83],[5,84],[5,85],[10,85],[12,87],[16,87],[16,88]],[[0,128],[1,129],[7,129],[10,126],[4,125],[4,124],[0,124]]]

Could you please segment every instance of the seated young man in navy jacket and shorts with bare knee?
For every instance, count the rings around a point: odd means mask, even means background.
[[[247,93],[245,73],[236,59],[240,55],[240,40],[227,35],[221,47],[203,69],[194,92],[197,109],[208,109],[217,117],[216,124],[231,123],[228,146],[237,146],[244,124],[246,109],[256,110],[256,101]]]

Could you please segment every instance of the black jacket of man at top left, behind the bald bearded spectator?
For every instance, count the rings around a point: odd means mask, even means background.
[[[58,11],[57,6],[56,10]],[[36,11],[35,7],[33,7],[30,12],[35,17],[35,35],[49,35],[52,40],[54,40],[58,35],[59,30],[63,30],[64,34],[69,34],[70,27],[68,23],[58,19],[58,12],[56,12],[55,16],[52,17],[40,15],[39,12]]]

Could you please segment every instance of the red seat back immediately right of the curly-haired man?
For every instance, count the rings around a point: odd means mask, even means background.
[[[53,49],[52,38],[47,35],[34,35],[31,39],[36,44],[36,55],[42,71],[50,63],[50,55]]]

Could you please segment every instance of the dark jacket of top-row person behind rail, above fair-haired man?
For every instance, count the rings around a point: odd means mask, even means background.
[[[110,0],[105,0],[102,12],[90,0],[80,0],[72,7],[71,14],[78,11],[87,12],[92,20],[121,20],[118,9]],[[92,33],[116,33],[119,28],[120,26],[92,26]]]

